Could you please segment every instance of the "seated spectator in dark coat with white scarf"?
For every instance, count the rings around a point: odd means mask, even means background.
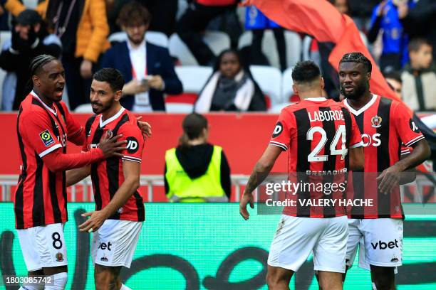
[[[244,69],[236,50],[224,50],[219,56],[206,85],[199,93],[194,111],[266,111],[259,85]]]

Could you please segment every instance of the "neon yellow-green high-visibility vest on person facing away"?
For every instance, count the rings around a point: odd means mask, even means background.
[[[221,152],[220,146],[214,146],[212,159],[206,173],[191,179],[187,175],[179,160],[176,149],[165,152],[167,164],[167,178],[170,192],[168,198],[172,203],[224,203],[227,196],[221,186]]]

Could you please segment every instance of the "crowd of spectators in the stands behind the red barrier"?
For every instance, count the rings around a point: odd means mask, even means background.
[[[436,1],[328,1],[353,18],[380,70],[404,102],[417,111],[434,111]],[[282,72],[289,68],[286,45],[292,43],[285,41],[286,30],[261,11],[238,4],[239,0],[1,0],[0,29],[11,33],[1,40],[0,68],[6,72],[0,84],[1,110],[19,108],[30,91],[29,61],[47,53],[62,60],[72,110],[89,102],[93,72],[111,67],[125,77],[126,108],[165,111],[165,95],[183,92],[175,70],[183,61],[147,41],[147,31],[159,31],[168,38],[177,35],[198,65],[214,69],[199,91],[194,112],[266,111],[264,93],[249,65],[271,65],[262,45],[266,30],[273,31],[276,67]],[[231,47],[214,51],[204,38],[204,31],[210,30],[227,33]],[[109,36],[118,31],[126,34],[125,41],[109,43]],[[238,39],[244,31],[251,31],[251,45],[241,53]],[[313,40],[311,51],[317,45]],[[326,60],[319,55],[317,60],[324,75],[334,75]],[[327,95],[337,97],[336,78],[326,77],[326,85]]]

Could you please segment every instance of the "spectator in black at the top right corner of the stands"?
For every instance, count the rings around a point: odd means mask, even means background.
[[[412,9],[408,6],[400,8],[400,19],[410,38],[426,38],[435,48],[436,1],[420,0]],[[436,59],[436,50],[433,50],[433,59]]]

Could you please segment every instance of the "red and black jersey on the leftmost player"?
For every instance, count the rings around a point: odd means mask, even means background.
[[[43,156],[62,149],[66,141],[82,145],[84,132],[71,117],[63,102],[48,107],[31,92],[21,102],[17,117],[21,166],[14,193],[16,228],[66,222],[65,172],[52,172],[43,163]]]

